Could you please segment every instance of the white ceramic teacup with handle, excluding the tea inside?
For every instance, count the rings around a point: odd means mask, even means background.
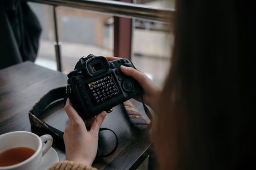
[[[0,135],[0,154],[17,147],[31,148],[35,151],[28,159],[18,164],[1,166],[0,170],[37,170],[43,155],[48,152],[52,143],[53,138],[50,135],[39,137],[27,131],[15,131]]]

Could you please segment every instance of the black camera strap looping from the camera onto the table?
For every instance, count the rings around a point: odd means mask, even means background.
[[[68,96],[66,94],[65,86],[52,89],[48,93],[43,95],[39,99],[39,101],[36,102],[34,104],[34,106],[29,110],[29,120],[31,123],[32,132],[38,134],[39,136],[44,135],[44,134],[50,134],[54,138],[53,145],[58,148],[61,148],[61,149],[65,148],[64,140],[63,140],[64,132],[47,124],[42,119],[45,118],[44,113],[48,109],[54,107],[55,104],[61,103],[62,106],[64,106],[67,97]],[[144,107],[144,111],[145,111],[146,115],[151,120],[151,122],[149,124],[147,124],[146,129],[150,129],[153,117],[152,117],[150,111],[148,110],[147,106],[144,104],[142,95],[141,95],[141,101],[143,103],[143,107]],[[112,149],[112,151],[110,151],[109,153],[104,153],[100,150],[100,148],[98,148],[98,152],[97,152],[98,157],[109,156],[109,155],[113,154],[116,151],[116,149],[118,148],[118,136],[116,135],[116,133],[113,130],[108,129],[108,128],[100,128],[99,131],[105,131],[105,130],[111,131],[115,135],[116,145],[115,145],[114,149]]]

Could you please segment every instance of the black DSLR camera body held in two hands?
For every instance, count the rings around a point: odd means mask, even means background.
[[[134,67],[128,59],[108,62],[93,54],[80,58],[68,74],[66,93],[80,117],[88,118],[142,93],[142,87],[120,66]]]

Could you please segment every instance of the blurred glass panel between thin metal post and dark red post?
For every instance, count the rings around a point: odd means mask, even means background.
[[[82,56],[113,56],[113,17],[74,8],[57,8],[63,72],[74,69]]]

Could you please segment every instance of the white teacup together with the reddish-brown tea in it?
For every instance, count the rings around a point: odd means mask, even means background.
[[[52,143],[50,135],[39,137],[26,131],[0,135],[0,170],[37,170]]]

